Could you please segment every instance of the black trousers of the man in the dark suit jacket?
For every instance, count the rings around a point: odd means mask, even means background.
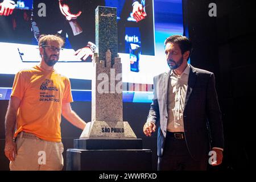
[[[185,139],[175,139],[167,132],[163,156],[158,158],[159,171],[205,171],[205,160],[194,160],[189,154]]]

